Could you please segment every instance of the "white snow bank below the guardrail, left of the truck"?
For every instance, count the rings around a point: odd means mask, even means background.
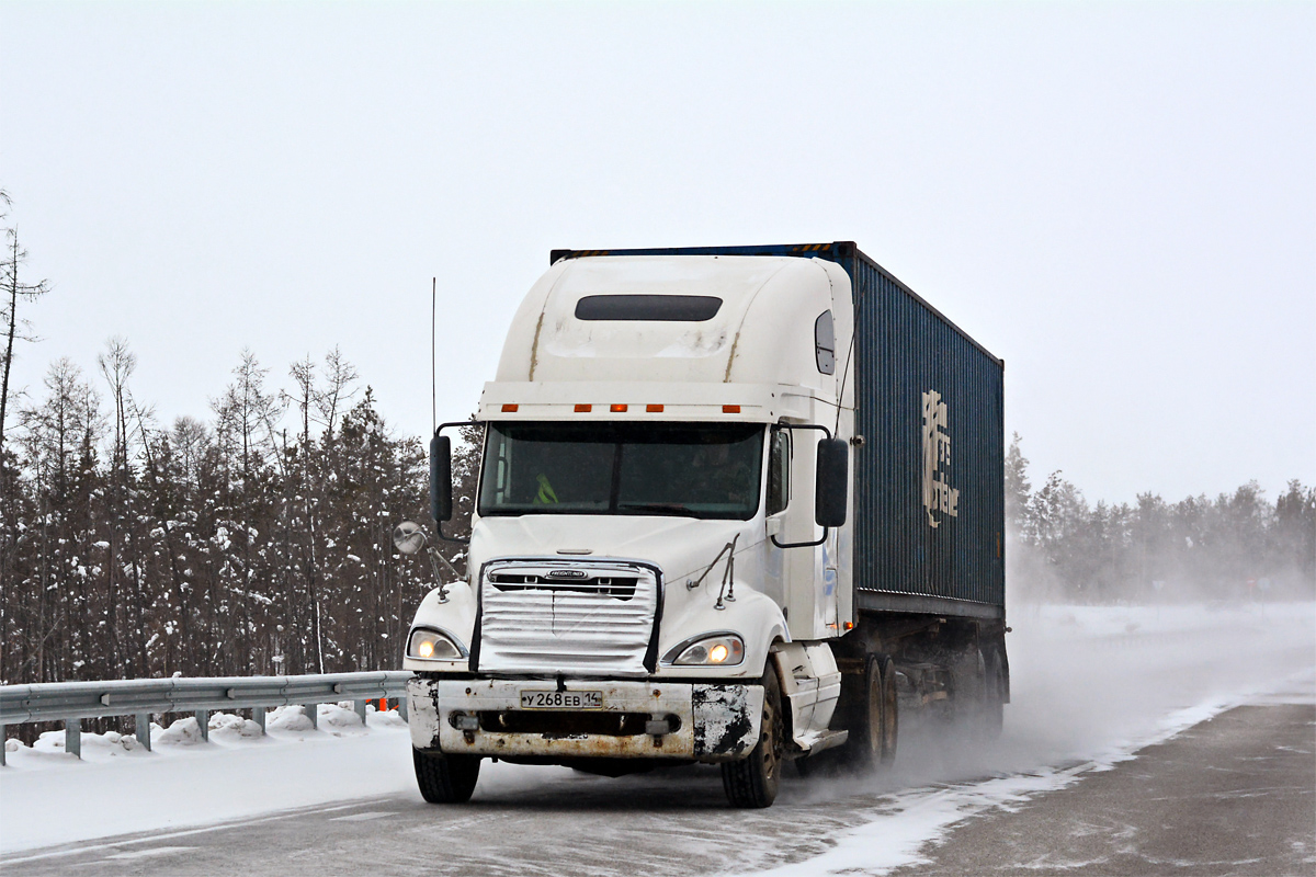
[[[5,743],[0,769],[0,852],[138,831],[208,824],[328,801],[415,789],[407,723],[396,711],[321,703],[320,730],[300,706],[268,713],[267,736],[238,715],[212,713],[211,740],[195,717],[137,738],[82,735],[82,760],[63,731],[32,747]]]

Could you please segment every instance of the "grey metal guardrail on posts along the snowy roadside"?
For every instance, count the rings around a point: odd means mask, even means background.
[[[407,718],[405,671],[371,673],[325,673],[321,676],[233,676],[217,678],[133,678],[104,682],[41,682],[0,686],[0,765],[4,757],[4,726],[26,722],[63,722],[64,751],[82,757],[82,721],[133,715],[138,742],[151,748],[154,713],[195,713],[201,739],[209,739],[213,710],[250,709],[265,734],[270,706],[315,706],[355,701],[357,715],[366,723],[366,703],[397,698]],[[318,726],[317,710],[305,710],[311,726]]]

